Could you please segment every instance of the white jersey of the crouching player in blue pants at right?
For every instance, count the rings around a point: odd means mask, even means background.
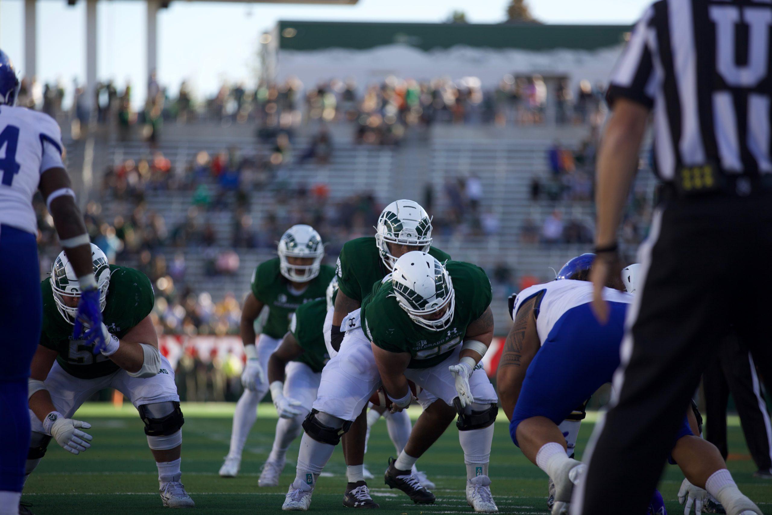
[[[512,318],[514,319],[517,310],[520,309],[523,302],[540,292],[544,292],[544,294],[534,308],[534,311],[536,313],[536,330],[541,344],[544,344],[552,327],[557,324],[557,320],[560,320],[560,317],[567,310],[592,301],[592,283],[589,281],[562,279],[552,281],[551,283],[536,284],[517,294],[515,305],[512,309]],[[633,296],[630,293],[612,288],[603,289],[603,298],[610,302],[628,304],[633,300]]]

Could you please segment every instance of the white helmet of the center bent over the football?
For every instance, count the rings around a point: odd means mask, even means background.
[[[420,250],[401,256],[394,263],[391,286],[399,307],[419,326],[443,330],[453,321],[453,281],[434,256]],[[442,314],[434,319],[426,318],[433,313]]]

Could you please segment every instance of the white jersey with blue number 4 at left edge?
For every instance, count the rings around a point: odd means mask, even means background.
[[[37,234],[32,196],[42,172],[63,167],[62,148],[52,117],[0,105],[0,224]]]

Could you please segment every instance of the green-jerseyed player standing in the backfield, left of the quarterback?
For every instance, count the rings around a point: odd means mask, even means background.
[[[292,314],[301,304],[323,299],[335,269],[323,265],[324,245],[310,225],[293,225],[279,239],[279,256],[259,264],[252,273],[252,288],[244,300],[240,333],[247,356],[242,374],[244,393],[233,414],[231,446],[220,476],[239,473],[242,451],[249,430],[257,418],[257,405],[266,396],[269,383],[265,370],[268,358],[287,332]],[[256,341],[255,320],[262,309],[268,309],[262,334]],[[277,426],[278,431],[278,426]],[[274,449],[281,449],[283,437],[276,435]],[[277,453],[280,453],[277,450]],[[276,486],[283,468],[269,459],[262,469],[258,484]]]

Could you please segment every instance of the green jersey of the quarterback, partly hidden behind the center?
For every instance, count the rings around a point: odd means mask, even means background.
[[[434,247],[429,247],[428,253],[440,263],[450,259],[448,254]],[[375,237],[365,236],[347,241],[340,249],[336,273],[340,291],[361,303],[371,292],[373,283],[381,281],[388,274],[378,246],[375,245]]]

